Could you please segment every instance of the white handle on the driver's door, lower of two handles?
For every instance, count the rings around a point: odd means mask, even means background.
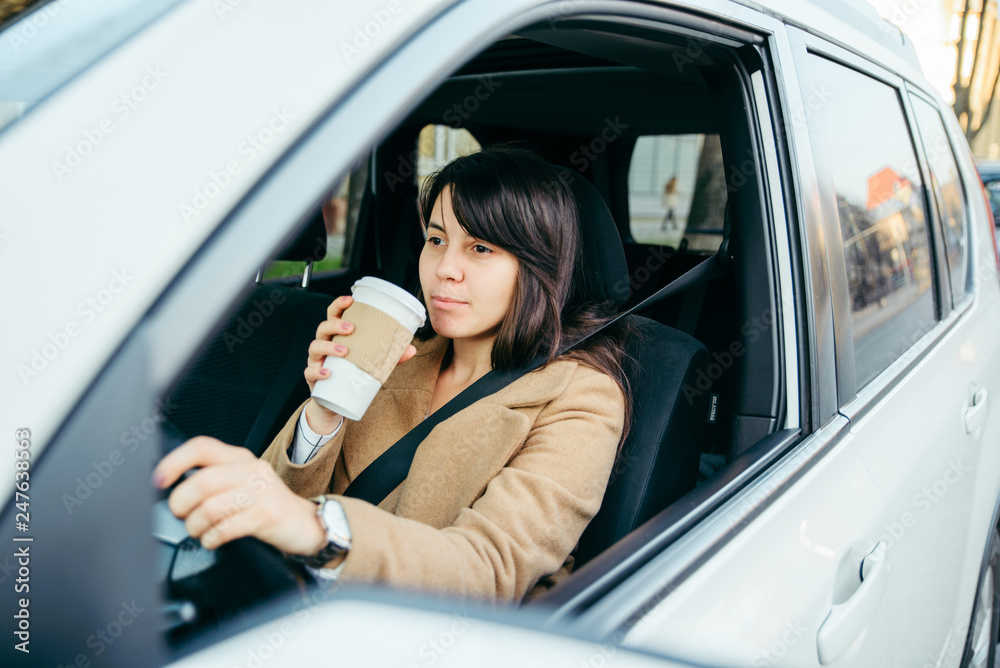
[[[885,550],[878,543],[861,562],[861,584],[849,599],[830,609],[819,627],[816,649],[820,663],[835,660],[857,640],[875,616],[888,581]]]

